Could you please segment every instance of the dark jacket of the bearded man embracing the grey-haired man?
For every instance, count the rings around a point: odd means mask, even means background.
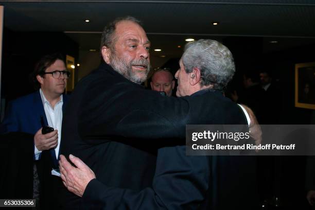
[[[109,196],[97,194],[101,190],[97,182],[110,188],[128,188],[134,190],[133,193],[151,188],[156,149],[184,145],[186,124],[246,124],[246,120],[235,103],[218,93],[205,92],[182,98],[163,97],[158,92],[145,90],[143,86],[127,80],[106,64],[82,79],[64,113],[64,141],[60,153],[78,156],[96,174],[97,180],[91,182],[91,186],[95,183],[90,190],[91,195],[84,193],[84,197],[88,198],[85,202],[90,205],[85,207],[103,205],[111,209],[117,204],[114,200],[107,205],[102,203],[102,198],[106,200]],[[193,176],[188,174],[183,181],[187,182]],[[161,184],[164,187],[160,189],[168,192],[174,190],[163,182]],[[204,187],[200,191],[204,194]],[[115,197],[111,191],[104,190],[103,193]],[[151,195],[154,197],[154,192],[152,194],[151,191]],[[66,209],[82,205],[83,200],[65,188],[60,196],[64,199]],[[156,202],[159,208],[165,207],[163,202],[153,197],[146,200],[140,196],[138,202],[149,209]],[[201,200],[204,199],[204,195],[201,197]],[[135,197],[131,194],[125,199],[128,203]],[[185,201],[185,198],[182,200]],[[121,199],[119,201],[122,202],[120,208],[128,208]],[[133,208],[138,208],[138,205],[133,205]]]

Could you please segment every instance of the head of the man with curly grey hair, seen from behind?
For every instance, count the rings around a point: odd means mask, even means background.
[[[222,91],[232,79],[235,65],[231,51],[215,40],[186,44],[180,60],[177,96],[191,95],[203,89]]]

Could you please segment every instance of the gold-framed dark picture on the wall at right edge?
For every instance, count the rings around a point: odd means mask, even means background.
[[[295,107],[315,109],[315,62],[295,64]]]

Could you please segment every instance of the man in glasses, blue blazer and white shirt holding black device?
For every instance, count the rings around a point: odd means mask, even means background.
[[[63,57],[46,55],[37,63],[31,80],[34,93],[9,102],[0,133],[25,132],[34,134],[33,198],[37,209],[56,209],[58,154],[61,140],[62,110],[67,79]],[[52,132],[42,132],[49,126]],[[39,207],[40,206],[40,207]]]

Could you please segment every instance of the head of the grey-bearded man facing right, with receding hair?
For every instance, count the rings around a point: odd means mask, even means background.
[[[111,27],[104,29],[101,55],[116,72],[141,84],[150,71],[150,41],[142,26],[133,19],[115,20]]]

